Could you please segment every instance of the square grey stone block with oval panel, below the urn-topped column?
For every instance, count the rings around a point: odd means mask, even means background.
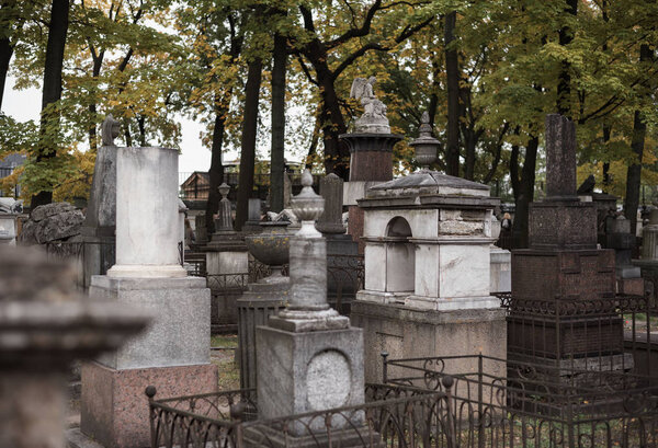
[[[287,332],[270,326],[257,329],[258,369],[268,380],[258,381],[259,417],[324,411],[364,402],[363,334],[360,329]],[[361,422],[332,421],[340,429]],[[315,418],[310,428],[302,423],[294,434],[326,429]]]

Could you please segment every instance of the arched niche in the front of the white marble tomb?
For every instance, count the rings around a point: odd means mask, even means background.
[[[416,245],[409,222],[396,216],[386,226],[386,291],[413,292]]]

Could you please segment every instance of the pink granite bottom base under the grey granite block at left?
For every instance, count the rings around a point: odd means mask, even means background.
[[[105,448],[150,446],[148,399],[217,391],[217,366],[212,364],[115,370],[99,363],[82,366],[80,429]]]

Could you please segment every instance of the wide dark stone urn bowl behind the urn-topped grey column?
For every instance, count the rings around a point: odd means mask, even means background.
[[[261,222],[261,233],[245,237],[249,253],[259,262],[272,268],[272,274],[260,283],[284,283],[287,277],[282,274],[283,265],[290,259],[290,233],[287,221]]]

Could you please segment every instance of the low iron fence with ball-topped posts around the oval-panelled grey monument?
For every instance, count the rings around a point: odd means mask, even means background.
[[[455,447],[450,388],[366,384],[366,402],[258,420],[253,390],[155,400],[151,447]]]

